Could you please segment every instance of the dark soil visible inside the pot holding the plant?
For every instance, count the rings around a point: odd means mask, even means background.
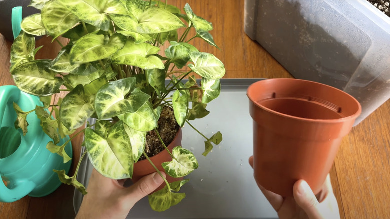
[[[174,118],[173,109],[170,107],[164,107],[161,111],[160,119],[158,120],[157,131],[160,134],[162,140],[165,145],[168,146],[170,142],[174,139],[179,129],[179,125]],[[160,139],[158,138],[157,133],[152,130],[146,134],[146,146],[145,152],[148,157],[152,157],[159,152],[164,150],[164,146],[162,145]],[[139,160],[146,159],[146,157],[142,154]]]

